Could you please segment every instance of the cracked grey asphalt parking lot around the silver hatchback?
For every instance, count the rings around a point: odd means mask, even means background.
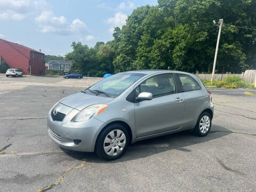
[[[255,191],[256,90],[213,89],[211,132],[134,143],[106,162],[47,135],[55,102],[101,78],[0,76],[0,191]]]

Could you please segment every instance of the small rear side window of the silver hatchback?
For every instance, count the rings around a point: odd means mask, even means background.
[[[185,92],[201,90],[201,86],[196,82],[193,77],[183,74],[179,74],[178,76]]]

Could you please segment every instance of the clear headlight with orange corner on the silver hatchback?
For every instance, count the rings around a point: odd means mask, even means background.
[[[76,114],[72,119],[71,122],[83,122],[86,121],[96,115],[99,115],[103,110],[107,109],[108,105],[104,104],[96,104],[91,105],[89,107],[84,108],[78,114]]]

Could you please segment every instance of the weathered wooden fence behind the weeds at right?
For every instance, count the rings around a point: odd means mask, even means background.
[[[211,80],[212,74],[197,74],[200,79]],[[213,80],[222,81],[225,77],[238,76],[244,82],[255,83],[256,70],[246,70],[242,74],[214,74]]]

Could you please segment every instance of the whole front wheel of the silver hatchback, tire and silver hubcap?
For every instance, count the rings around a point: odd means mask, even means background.
[[[95,151],[107,161],[114,160],[124,154],[129,140],[127,129],[121,124],[113,124],[100,133]]]

